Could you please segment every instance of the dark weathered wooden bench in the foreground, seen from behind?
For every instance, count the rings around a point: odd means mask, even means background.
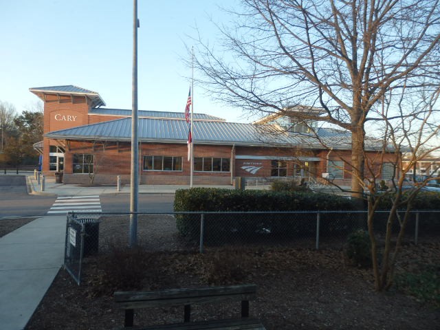
[[[134,309],[158,306],[184,306],[184,322],[156,325],[144,329],[249,329],[265,330],[259,320],[249,318],[249,300],[256,298],[256,285],[232,285],[228,287],[200,287],[170,289],[158,292],[115,292],[118,307],[125,309],[124,327],[133,327]],[[223,300],[241,300],[241,318],[190,322],[191,305],[217,303]]]

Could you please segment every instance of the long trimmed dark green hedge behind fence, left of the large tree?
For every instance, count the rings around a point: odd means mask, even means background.
[[[176,191],[174,202],[175,212],[270,212],[205,214],[205,243],[314,236],[316,214],[276,212],[353,209],[350,199],[334,195],[218,188],[180,189]],[[182,236],[195,241],[199,239],[200,214],[177,214],[176,218],[177,229]],[[321,214],[321,232],[347,234],[353,225],[352,220],[349,212]]]

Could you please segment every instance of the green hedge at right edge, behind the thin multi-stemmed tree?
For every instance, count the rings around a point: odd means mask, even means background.
[[[405,191],[404,195],[409,192]],[[394,195],[388,193],[389,198],[382,198],[377,210],[386,211],[390,210],[392,206],[392,200],[394,199]],[[405,198],[405,196],[404,196]],[[406,211],[407,204],[404,203],[399,207],[399,215],[400,217],[404,217]],[[428,192],[421,191],[417,194],[415,199],[412,201],[411,206],[411,214],[408,219],[408,225],[406,226],[405,233],[408,235],[414,234],[415,231],[415,218],[416,211],[438,211],[440,210],[440,194],[438,192]],[[377,232],[385,232],[386,230],[386,221],[388,219],[388,212],[377,212],[375,214],[374,222],[375,222],[375,230]],[[424,232],[440,232],[440,213],[439,212],[421,212],[419,214],[419,228],[423,228]],[[400,229],[400,226],[395,221],[395,225],[393,225],[393,232],[397,233]]]

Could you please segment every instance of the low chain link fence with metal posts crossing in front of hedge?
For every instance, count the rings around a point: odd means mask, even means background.
[[[381,239],[389,212],[375,212],[374,228]],[[353,211],[304,212],[173,212],[137,213],[137,245],[148,251],[199,251],[219,246],[251,245],[291,248],[343,248],[347,236],[367,229],[367,213]],[[400,214],[402,217],[404,214]],[[393,239],[399,224],[393,225]],[[128,246],[129,213],[67,214],[65,267],[80,283],[83,259]],[[405,240],[440,234],[439,211],[413,211]]]

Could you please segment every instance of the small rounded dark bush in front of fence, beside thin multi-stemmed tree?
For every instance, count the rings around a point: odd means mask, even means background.
[[[356,230],[347,238],[346,254],[348,259],[358,267],[371,267],[371,241],[366,230]]]

